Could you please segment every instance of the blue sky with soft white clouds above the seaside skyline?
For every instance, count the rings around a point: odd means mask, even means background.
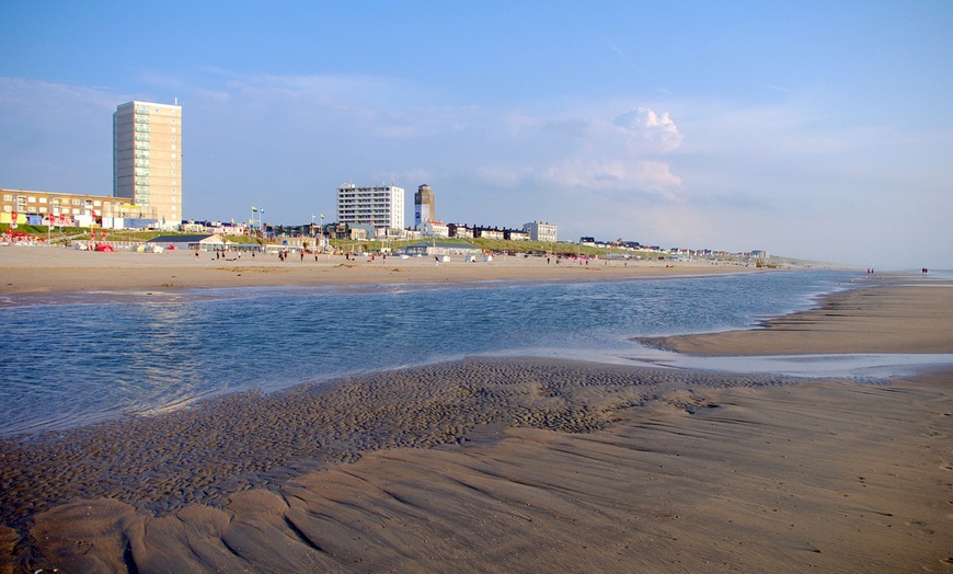
[[[953,2],[0,3],[0,187],[112,194],[112,114],[183,108],[190,219],[444,222],[953,268]]]

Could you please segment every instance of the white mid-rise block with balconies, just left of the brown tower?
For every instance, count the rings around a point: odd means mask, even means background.
[[[404,191],[393,185],[337,188],[337,222],[370,226],[375,237],[404,228]]]

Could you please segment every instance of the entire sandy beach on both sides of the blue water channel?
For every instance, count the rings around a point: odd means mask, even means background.
[[[5,295],[638,267],[21,256],[0,253]],[[953,353],[951,311],[953,285],[883,277],[763,329],[653,344]],[[471,358],[4,440],[0,572],[953,572],[951,379]]]

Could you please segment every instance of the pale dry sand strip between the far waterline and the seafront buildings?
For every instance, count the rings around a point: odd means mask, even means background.
[[[165,251],[99,253],[60,248],[0,248],[0,296],[74,290],[170,290],[200,287],[267,287],[372,283],[445,283],[508,279],[589,280],[755,271],[737,264],[564,260],[498,256],[437,264],[426,257],[314,255],[282,262],[276,255],[229,255]]]

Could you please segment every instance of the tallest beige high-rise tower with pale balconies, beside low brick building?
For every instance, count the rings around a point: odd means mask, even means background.
[[[113,196],[160,226],[182,221],[182,107],[128,102],[113,114]]]

